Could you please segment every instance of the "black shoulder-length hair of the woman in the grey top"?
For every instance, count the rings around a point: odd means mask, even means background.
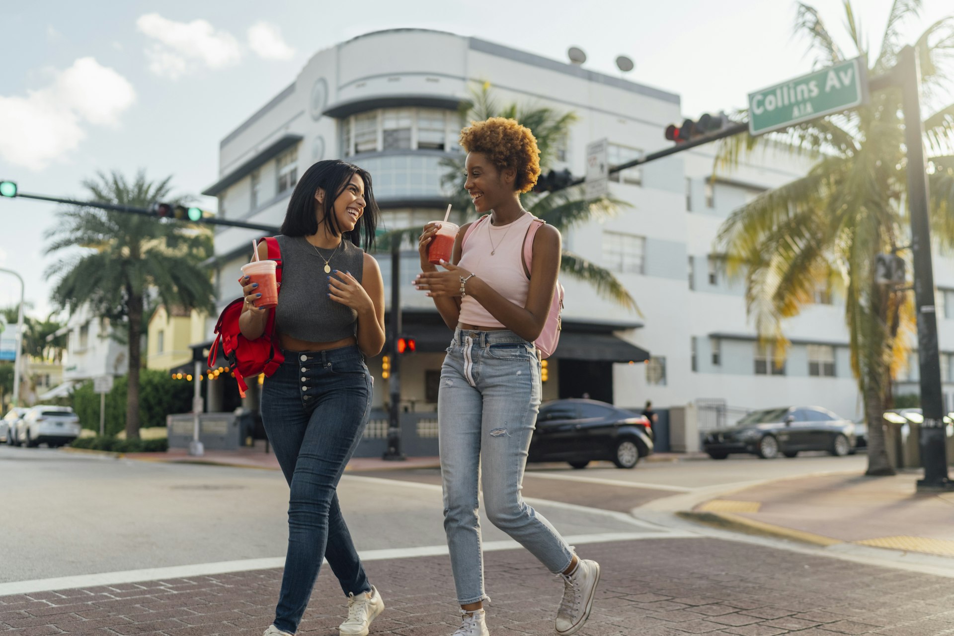
[[[334,215],[335,200],[342,195],[355,174],[361,176],[364,182],[364,213],[355,229],[346,234],[352,243],[363,247],[365,252],[370,250],[374,246],[374,234],[378,227],[378,203],[374,200],[374,192],[371,190],[371,174],[341,159],[319,161],[304,171],[291,200],[288,201],[285,220],[281,223],[281,234],[311,236],[318,233],[315,193],[321,188],[324,190],[324,215],[321,222],[327,225],[332,234],[341,235],[342,230]]]

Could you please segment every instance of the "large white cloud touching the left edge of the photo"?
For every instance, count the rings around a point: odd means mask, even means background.
[[[135,90],[125,77],[92,57],[81,57],[56,72],[46,88],[26,97],[0,95],[0,156],[42,170],[79,145],[85,124],[115,127],[134,102]]]

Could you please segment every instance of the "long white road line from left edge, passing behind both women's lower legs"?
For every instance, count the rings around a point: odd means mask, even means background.
[[[570,535],[564,537],[568,544],[585,545],[601,544],[614,541],[643,541],[646,539],[697,539],[695,532],[674,531],[666,534],[659,532],[604,532],[600,534]],[[523,549],[521,544],[513,540],[491,541],[484,544],[485,552],[499,552],[502,550]],[[381,550],[363,550],[358,555],[362,561],[384,561],[385,559],[412,559],[415,557],[439,557],[448,554],[447,545],[422,545],[419,547],[398,547]],[[228,574],[230,572],[245,572],[249,570],[272,569],[283,567],[284,557],[268,559],[244,559],[241,561],[221,561],[211,564],[173,565],[170,567],[151,567],[139,570],[121,572],[103,572],[100,574],[81,574],[64,576],[52,579],[34,579],[32,581],[17,581],[0,583],[0,597],[10,594],[30,594],[31,592],[46,592],[56,589],[73,589],[77,587],[93,587],[95,585],[119,585],[140,581],[165,581],[169,579],[188,579],[196,576],[211,576]],[[327,562],[325,562],[327,563]]]

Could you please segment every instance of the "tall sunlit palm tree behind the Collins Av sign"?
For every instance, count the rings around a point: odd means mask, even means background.
[[[861,22],[845,0],[846,24],[854,52],[874,60],[872,76],[894,66],[906,20],[918,15],[921,0],[895,0],[882,37],[881,51],[868,55]],[[796,32],[807,35],[817,53],[816,67],[844,60],[819,12],[798,4]],[[954,52],[954,17],[931,25],[917,41],[925,94],[938,96],[951,87],[943,72]],[[890,408],[891,380],[905,364],[912,341],[914,311],[902,291],[875,279],[878,254],[902,249],[907,239],[907,188],[902,94],[897,87],[875,92],[870,102],[832,115],[753,138],[736,135],[719,149],[718,164],[732,167],[757,145],[781,145],[814,160],[805,176],[763,193],[737,209],[716,239],[730,269],[745,277],[746,302],[762,339],[774,340],[783,352],[785,318],[810,304],[819,284],[838,283],[845,297],[850,333],[851,367],[858,381],[869,423],[868,475],[893,469],[884,446],[882,414]],[[954,104],[924,122],[931,158],[931,214],[935,236],[954,244]]]

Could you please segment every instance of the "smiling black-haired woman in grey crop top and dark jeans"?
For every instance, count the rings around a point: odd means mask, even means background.
[[[248,277],[239,326],[247,339],[275,312],[284,363],[266,378],[261,417],[291,487],[288,551],[275,622],[265,636],[294,634],[327,559],[348,599],[342,636],[365,636],[384,609],[342,518],[337,487],[371,410],[364,358],[384,346],[384,283],[370,247],[378,220],[371,175],[338,160],[320,161],[295,187],[278,236],[279,304],[257,308]],[[259,258],[267,258],[264,241]]]

